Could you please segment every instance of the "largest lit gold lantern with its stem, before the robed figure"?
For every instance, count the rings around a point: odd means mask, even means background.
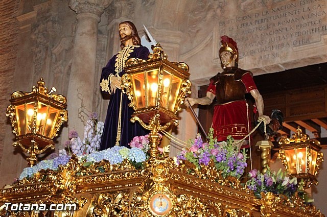
[[[122,77],[122,89],[128,94],[137,120],[145,129],[151,130],[150,156],[158,153],[158,132],[172,124],[178,125],[177,112],[181,110],[186,93],[190,93],[189,66],[183,62],[170,62],[162,47],[153,47],[149,60],[128,59],[126,74]]]

